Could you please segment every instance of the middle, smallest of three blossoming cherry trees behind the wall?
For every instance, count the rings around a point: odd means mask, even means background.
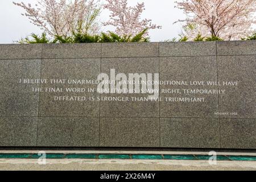
[[[152,24],[151,19],[142,19],[141,14],[144,9],[144,3],[137,3],[131,7],[127,5],[127,0],[106,0],[104,9],[110,11],[110,20],[105,22],[105,26],[114,26],[115,33],[118,35],[136,35],[144,29],[161,28]],[[146,33],[147,35],[148,33]]]

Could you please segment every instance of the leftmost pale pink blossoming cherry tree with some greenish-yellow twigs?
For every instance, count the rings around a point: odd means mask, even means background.
[[[33,7],[23,2],[14,5],[22,7],[22,14],[40,27],[49,36],[70,36],[77,28],[84,33],[96,33],[100,28],[98,15],[100,5],[93,0],[38,0]]]

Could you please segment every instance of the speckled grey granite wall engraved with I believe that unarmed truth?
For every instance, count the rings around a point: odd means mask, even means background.
[[[253,40],[0,44],[1,147],[256,149],[255,104]]]

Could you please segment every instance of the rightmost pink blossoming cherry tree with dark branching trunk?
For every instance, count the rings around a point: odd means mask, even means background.
[[[177,22],[185,22],[184,27],[193,27],[185,28],[189,37],[200,33],[236,40],[255,31],[255,0],[184,0],[176,4],[187,15],[187,19]]]

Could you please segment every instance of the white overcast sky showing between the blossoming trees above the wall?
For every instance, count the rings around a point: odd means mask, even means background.
[[[20,15],[24,13],[21,7],[15,6],[14,2],[33,3],[35,0],[0,0],[0,43],[13,43],[24,38],[32,32],[40,34],[40,28],[29,22],[28,18]],[[102,0],[102,3],[105,1]],[[159,30],[150,30],[151,42],[159,42],[178,36],[181,33],[180,23],[173,24],[177,19],[183,19],[184,14],[176,9],[175,1],[172,0],[129,0],[129,5],[144,2],[146,10],[142,18],[152,19],[152,23],[162,26]],[[101,13],[101,21],[108,20],[109,12]],[[112,28],[102,27],[103,31]]]

